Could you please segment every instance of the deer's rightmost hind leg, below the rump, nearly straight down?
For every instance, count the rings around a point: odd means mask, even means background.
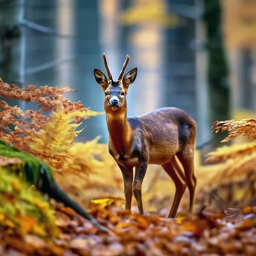
[[[180,163],[184,168],[186,175],[186,182],[189,189],[189,212],[193,212],[193,202],[196,189],[196,177],[194,173],[194,153],[195,145],[193,143],[187,144],[182,152],[177,154]]]

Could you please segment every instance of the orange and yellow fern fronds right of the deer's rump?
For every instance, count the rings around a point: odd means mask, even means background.
[[[255,139],[254,119],[215,122],[212,132],[228,132],[221,142],[245,136]],[[200,166],[198,175],[205,182],[198,186],[197,200],[200,204],[211,204],[216,209],[245,207],[256,204],[256,144],[255,142],[224,145],[209,152],[206,166]]]

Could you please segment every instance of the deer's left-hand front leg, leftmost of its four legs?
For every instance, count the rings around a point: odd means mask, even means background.
[[[132,168],[125,169],[121,164],[118,164],[118,166],[122,171],[124,179],[125,210],[131,211],[133,170]]]

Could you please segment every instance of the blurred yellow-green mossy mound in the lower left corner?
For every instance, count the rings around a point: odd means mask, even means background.
[[[0,169],[0,191],[0,226],[7,228],[6,234],[58,235],[54,210],[47,198],[3,167]]]

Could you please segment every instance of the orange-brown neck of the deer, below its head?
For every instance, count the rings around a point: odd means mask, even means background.
[[[109,142],[116,153],[125,154],[129,150],[132,138],[131,127],[127,121],[127,113],[122,115],[106,115],[109,131]]]

